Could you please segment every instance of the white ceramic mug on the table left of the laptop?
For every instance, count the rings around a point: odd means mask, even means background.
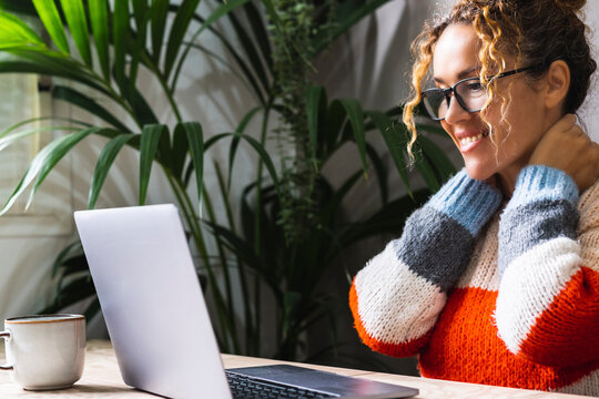
[[[12,380],[28,390],[64,389],[83,372],[85,317],[40,315],[4,320],[7,365]]]

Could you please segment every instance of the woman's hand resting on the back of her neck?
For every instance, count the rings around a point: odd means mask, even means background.
[[[599,144],[567,114],[545,133],[528,163],[561,170],[585,191],[599,178]]]

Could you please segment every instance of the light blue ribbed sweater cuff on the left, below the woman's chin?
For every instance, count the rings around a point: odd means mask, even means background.
[[[478,234],[500,204],[501,193],[483,181],[471,178],[465,168],[451,177],[427,203],[466,227],[473,236]]]

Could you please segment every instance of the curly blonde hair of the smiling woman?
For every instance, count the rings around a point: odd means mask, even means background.
[[[586,38],[588,28],[579,16],[585,3],[586,0],[460,0],[446,18],[425,23],[412,43],[415,60],[412,95],[403,115],[412,133],[408,143],[412,161],[412,149],[417,139],[415,109],[422,101],[423,81],[429,73],[435,44],[448,25],[471,25],[480,39],[479,78],[489,92],[483,110],[499,100],[501,115],[506,113],[511,99],[497,93],[493,76],[505,71],[509,55],[516,59],[515,68],[532,66],[526,72],[528,80],[542,76],[554,61],[564,60],[570,69],[564,113],[573,113],[587,96],[590,76],[597,69]],[[481,119],[489,125],[484,112]]]

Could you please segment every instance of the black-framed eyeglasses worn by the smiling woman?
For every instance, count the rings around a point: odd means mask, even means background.
[[[489,78],[495,80],[509,76],[516,73],[528,71],[537,65],[515,69],[512,71],[502,72],[498,75]],[[480,82],[480,78],[466,78],[447,89],[427,89],[423,91],[423,102],[426,111],[434,121],[443,121],[449,110],[451,96],[455,96],[458,104],[468,112],[478,112],[485,106],[488,100],[487,86]]]

